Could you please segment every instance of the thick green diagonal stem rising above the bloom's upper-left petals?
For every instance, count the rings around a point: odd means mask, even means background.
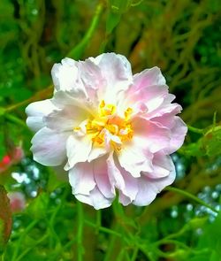
[[[86,35],[84,35],[83,39],[77,46],[75,46],[68,54],[67,56],[74,59],[81,58],[84,50],[86,49],[88,42],[90,42],[92,36],[95,33],[95,29],[98,26],[98,22],[101,16],[101,13],[103,12],[103,4],[98,4],[95,10],[95,15],[91,21],[90,27],[88,28],[88,31],[86,32]]]

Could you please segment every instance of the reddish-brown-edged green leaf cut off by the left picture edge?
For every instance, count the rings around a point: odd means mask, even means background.
[[[0,185],[0,253],[4,250],[11,235],[11,225],[10,201],[6,190]]]

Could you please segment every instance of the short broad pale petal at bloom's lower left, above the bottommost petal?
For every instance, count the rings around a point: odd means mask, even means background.
[[[95,188],[93,165],[88,162],[76,164],[69,170],[69,182],[73,195],[90,195],[90,191]]]

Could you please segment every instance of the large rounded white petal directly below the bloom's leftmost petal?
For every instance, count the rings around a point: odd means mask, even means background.
[[[32,139],[34,160],[42,165],[56,166],[65,161],[65,144],[69,133],[57,133],[48,127],[39,130]]]

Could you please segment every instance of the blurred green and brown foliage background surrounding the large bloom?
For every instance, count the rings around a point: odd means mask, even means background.
[[[0,260],[221,260],[220,1],[2,0],[0,13]],[[133,73],[160,67],[189,132],[175,189],[79,213],[70,185],[33,161],[24,110],[51,96],[54,63],[104,51]]]

